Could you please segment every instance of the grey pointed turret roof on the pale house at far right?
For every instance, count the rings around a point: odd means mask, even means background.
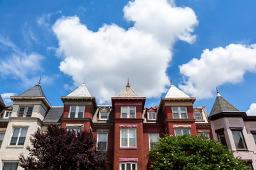
[[[213,108],[210,111],[210,116],[215,115],[222,112],[239,112],[237,108],[228,103],[220,94],[215,99],[213,104]]]

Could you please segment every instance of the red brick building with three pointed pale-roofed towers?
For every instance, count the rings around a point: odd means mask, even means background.
[[[146,154],[163,134],[213,138],[204,107],[193,108],[191,98],[171,84],[159,106],[145,108],[146,98],[129,83],[112,97],[112,105],[97,105],[85,84],[65,97],[61,127],[92,132],[107,154],[105,169],[149,169]]]

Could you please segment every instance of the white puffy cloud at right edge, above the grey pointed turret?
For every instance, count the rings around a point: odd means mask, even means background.
[[[201,58],[193,58],[180,66],[184,84],[179,87],[200,98],[213,96],[216,86],[243,80],[246,72],[256,71],[256,44],[250,46],[230,44],[204,50]]]

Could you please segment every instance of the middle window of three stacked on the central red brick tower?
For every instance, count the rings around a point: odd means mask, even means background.
[[[136,129],[121,129],[121,147],[136,147]]]

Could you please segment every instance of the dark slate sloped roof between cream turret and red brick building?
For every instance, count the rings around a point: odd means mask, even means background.
[[[46,117],[43,119],[43,123],[60,123],[60,119],[63,115],[63,106],[53,106],[48,111]]]

